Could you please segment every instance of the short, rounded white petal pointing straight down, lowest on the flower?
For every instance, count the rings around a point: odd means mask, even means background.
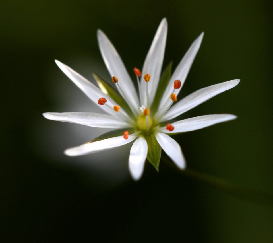
[[[139,180],[143,174],[147,153],[148,144],[143,137],[139,137],[133,143],[129,156],[129,171],[134,180]]]

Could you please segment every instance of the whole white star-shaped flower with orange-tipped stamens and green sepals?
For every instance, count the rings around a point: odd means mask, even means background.
[[[176,96],[179,94],[180,87],[183,85],[199,50],[203,33],[190,46],[171,78],[168,78],[170,68],[166,69],[160,78],[167,38],[167,20],[164,18],[146,56],[142,72],[134,69],[138,81],[139,96],[113,44],[101,30],[98,30],[97,36],[104,63],[119,93],[96,74],[94,77],[100,88],[65,64],[57,60],[56,63],[67,77],[106,114],[47,112],[43,115],[50,120],[116,130],[83,145],[66,149],[64,151],[66,155],[85,155],[134,141],[129,156],[129,171],[133,179],[138,180],[142,176],[146,158],[158,169],[161,148],[178,168],[186,168],[181,147],[170,135],[201,129],[236,118],[231,114],[213,114],[170,122],[173,118],[239,83],[239,79],[235,79],[211,85],[176,102]],[[140,80],[138,76],[141,77]],[[174,102],[176,104],[172,105]]]

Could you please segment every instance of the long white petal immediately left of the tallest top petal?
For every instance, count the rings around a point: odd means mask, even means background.
[[[125,97],[122,93],[121,95],[125,100],[127,100],[129,105],[131,104],[130,107],[138,112],[137,109],[139,107],[139,100],[137,92],[133,84],[133,81],[131,80],[123,64],[123,61],[119,56],[119,53],[117,53],[117,50],[115,49],[111,41],[107,38],[106,34],[104,34],[104,32],[98,30],[97,37],[100,53],[102,54],[102,58],[111,77],[115,76],[118,78],[119,86],[122,88],[123,92],[125,92],[127,97]]]

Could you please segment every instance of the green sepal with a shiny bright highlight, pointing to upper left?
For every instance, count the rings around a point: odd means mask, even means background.
[[[117,102],[118,105],[120,105],[129,116],[134,117],[129,105],[123,97],[115,90],[109,83],[107,83],[102,77],[100,77],[98,74],[93,72],[93,77],[96,80],[98,86],[104,92],[104,94],[109,95],[115,102]],[[100,98],[100,97],[99,97]]]

